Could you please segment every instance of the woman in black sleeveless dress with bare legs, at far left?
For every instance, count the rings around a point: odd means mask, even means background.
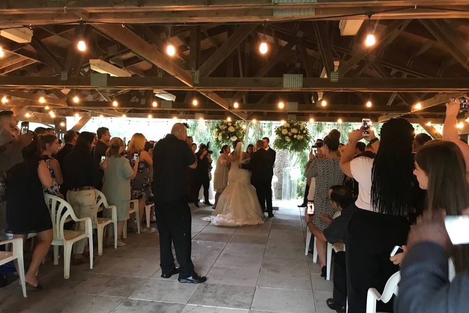
[[[52,243],[52,220],[44,201],[43,186],[50,187],[52,178],[41,155],[40,142],[33,133],[33,141],[22,150],[23,162],[7,172],[6,223],[13,238],[26,240],[29,233],[37,233],[31,264],[25,275],[26,284],[43,289],[38,270]],[[18,266],[16,264],[16,266]]]

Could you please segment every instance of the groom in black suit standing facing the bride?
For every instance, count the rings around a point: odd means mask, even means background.
[[[275,157],[272,152],[263,148],[262,140],[257,140],[256,149],[256,152],[251,156],[249,164],[242,164],[241,167],[252,172],[251,184],[256,188],[257,199],[262,208],[262,215],[264,215],[267,209],[269,217],[273,217],[272,177],[274,175]]]

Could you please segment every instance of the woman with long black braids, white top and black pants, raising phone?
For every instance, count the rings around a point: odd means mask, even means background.
[[[367,139],[377,151],[375,159],[357,157],[355,145]],[[341,169],[359,182],[359,195],[346,237],[347,299],[349,313],[364,313],[368,288],[384,289],[399,270],[389,260],[394,246],[405,245],[416,183],[413,176],[414,129],[403,118],[391,119],[381,128],[381,142],[373,131],[349,134]],[[377,311],[392,312],[392,301],[379,303]]]

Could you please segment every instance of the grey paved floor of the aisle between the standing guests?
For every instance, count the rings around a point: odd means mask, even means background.
[[[208,277],[204,284],[181,284],[177,275],[160,277],[158,233],[152,224],[141,235],[129,234],[127,246],[106,248],[93,269],[72,267],[68,280],[62,264],[47,261],[40,268],[44,290],[28,288],[23,298],[17,282],[1,288],[0,312],[333,312],[325,304],[332,297],[332,281],[320,277],[320,266],[304,255],[306,226],[296,206],[280,207],[263,225],[243,227],[201,220],[211,212],[208,206],[192,208],[192,259],[197,273]]]

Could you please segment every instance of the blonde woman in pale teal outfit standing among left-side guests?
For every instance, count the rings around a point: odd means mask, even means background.
[[[117,246],[125,246],[121,235],[124,229],[124,222],[128,220],[128,211],[130,207],[130,179],[137,174],[138,159],[135,166],[130,166],[128,159],[122,156],[126,149],[124,141],[119,137],[114,137],[109,143],[106,152],[104,170],[103,193],[106,196],[109,205],[117,207]],[[110,217],[110,212],[104,213],[105,217]],[[110,226],[110,225],[109,225]],[[107,227],[107,242],[112,242],[113,230]]]

